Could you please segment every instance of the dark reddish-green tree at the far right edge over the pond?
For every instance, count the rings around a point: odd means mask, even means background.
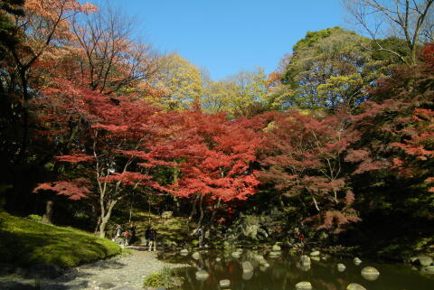
[[[350,129],[359,132],[361,139],[346,160],[356,166],[354,182],[362,184],[359,191],[364,200],[384,214],[428,216],[432,63],[429,44],[417,66],[401,66],[390,78],[379,81],[379,87],[370,92],[371,101],[352,117]]]

